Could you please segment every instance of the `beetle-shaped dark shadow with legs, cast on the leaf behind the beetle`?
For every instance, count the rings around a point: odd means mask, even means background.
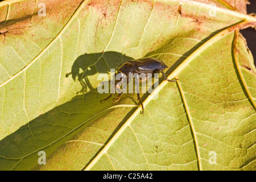
[[[85,53],[77,57],[72,65],[71,72],[66,77],[72,76],[74,81],[79,81],[82,89],[77,93],[85,93],[86,89],[93,90],[90,76],[97,73],[110,73],[110,69],[116,69],[127,60],[133,60],[133,57],[123,55],[120,52],[108,51],[99,53]]]

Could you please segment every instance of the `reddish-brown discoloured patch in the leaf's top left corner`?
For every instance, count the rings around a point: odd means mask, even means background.
[[[32,6],[32,11],[30,9],[23,9],[22,14],[19,16],[14,16],[12,13],[10,13],[9,16],[11,16],[10,19],[4,20],[0,22],[0,31],[6,30],[9,32],[10,35],[22,35],[25,32],[28,33],[30,30],[31,24],[41,24],[42,26],[47,26],[47,24],[44,24],[44,19],[49,19],[52,22],[58,22],[61,24],[67,23],[67,20],[70,18],[70,16],[74,13],[74,11],[79,6],[79,3],[81,0],[69,0],[69,1],[53,1],[48,0],[44,3],[46,4],[46,16],[39,16],[38,11],[42,7],[38,7],[35,4],[28,4],[26,6]],[[69,6],[67,6],[69,5]],[[14,9],[16,7],[15,4],[10,5],[10,9]],[[35,9],[35,11],[34,11]],[[27,11],[26,11],[27,10]],[[60,12],[61,10],[61,12]],[[15,10],[16,11],[16,10]],[[18,10],[17,10],[18,11]],[[12,17],[13,16],[13,17]],[[46,27],[47,29],[47,27]],[[29,34],[29,33],[28,33]]]

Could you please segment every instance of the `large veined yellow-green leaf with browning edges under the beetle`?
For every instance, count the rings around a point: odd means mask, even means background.
[[[237,32],[254,16],[188,0],[48,1],[39,16],[35,2],[0,3],[0,169],[256,169],[256,69]],[[179,81],[142,94],[144,114],[137,94],[101,104],[100,73],[148,56]]]

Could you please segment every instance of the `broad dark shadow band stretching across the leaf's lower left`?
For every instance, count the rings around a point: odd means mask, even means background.
[[[105,113],[105,111],[110,113],[112,111],[108,104],[104,105],[100,104],[99,101],[94,101],[94,98],[101,97],[104,96],[93,91],[75,96],[64,104],[38,115],[38,117],[1,139],[0,169],[38,170],[41,166],[38,163],[39,151],[46,152],[48,158],[51,155],[54,156],[54,151],[58,147],[65,148],[66,142],[75,141],[79,136],[86,138],[86,135],[80,134],[92,128],[94,122],[101,122],[99,118],[102,117],[102,113]],[[92,111],[92,108],[95,110]],[[136,109],[137,107],[133,107],[128,113],[125,113],[125,117],[120,118],[117,126],[115,126],[114,122],[105,122],[106,127],[110,127],[113,130],[104,140],[99,137],[103,146],[98,148],[98,151],[94,150],[96,151],[95,155],[113,138]],[[118,118],[118,115],[116,118]],[[88,150],[90,149],[88,148]],[[29,157],[23,158],[23,156]],[[84,165],[88,165],[87,162]]]

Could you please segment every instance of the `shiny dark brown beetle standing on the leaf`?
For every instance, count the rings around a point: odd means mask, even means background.
[[[170,82],[176,82],[176,80],[168,80],[166,74],[164,74],[163,70],[168,68],[166,64],[163,63],[162,60],[160,59],[155,59],[154,57],[144,57],[142,59],[136,59],[136,60],[129,60],[126,61],[125,63],[119,65],[117,68],[117,74],[121,73],[125,75],[126,77],[129,77],[130,73],[138,73],[139,75],[141,73],[162,73],[164,80],[170,81]],[[147,79],[147,77],[146,77]],[[129,82],[130,80],[127,80]],[[115,83],[115,86],[117,83]],[[110,94],[109,97],[105,98],[102,101],[108,100],[110,97],[112,97],[114,93]],[[115,98],[113,102],[119,101],[120,97],[122,96],[123,93],[119,93],[118,96]],[[142,106],[142,114],[144,113],[144,106],[141,101],[141,97],[139,96],[139,93],[137,93],[137,98],[139,102],[141,103]]]

